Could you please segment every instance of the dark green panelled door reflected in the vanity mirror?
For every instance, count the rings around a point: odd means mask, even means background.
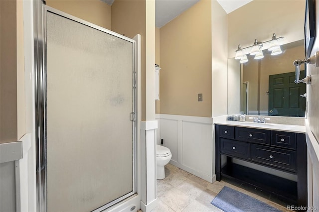
[[[300,78],[305,76],[301,71]],[[276,116],[305,116],[306,84],[295,84],[295,72],[269,76],[268,114]]]

